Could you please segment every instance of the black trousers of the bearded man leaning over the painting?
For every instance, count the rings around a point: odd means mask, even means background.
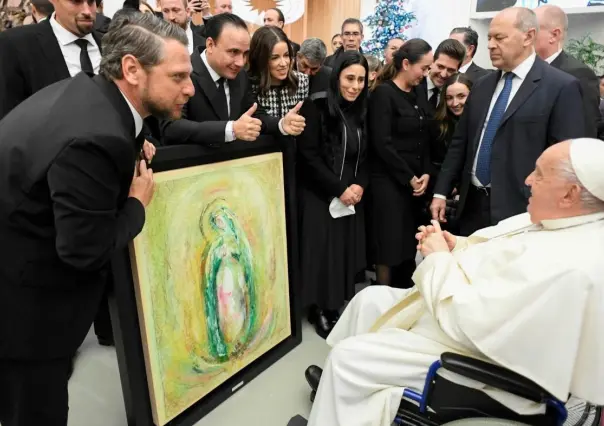
[[[2,426],[67,426],[70,358],[0,360]]]

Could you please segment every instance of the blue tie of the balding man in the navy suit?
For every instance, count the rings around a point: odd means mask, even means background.
[[[497,129],[499,129],[499,124],[501,123],[501,119],[505,114],[508,101],[510,100],[513,78],[514,73],[512,72],[508,72],[505,75],[503,90],[495,101],[495,106],[493,106],[493,111],[491,111],[491,116],[489,117],[489,122],[487,123],[486,130],[484,131],[480,149],[478,150],[478,159],[476,161],[476,178],[483,186],[487,186],[491,183],[491,147],[493,146]]]

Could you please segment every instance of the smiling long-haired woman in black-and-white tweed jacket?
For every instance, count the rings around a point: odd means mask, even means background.
[[[308,97],[308,76],[292,69],[294,53],[277,27],[259,28],[252,37],[248,73],[258,106],[268,115],[285,117]]]

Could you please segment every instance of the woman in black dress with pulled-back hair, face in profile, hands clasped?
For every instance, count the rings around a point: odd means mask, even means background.
[[[369,101],[371,260],[382,285],[413,285],[415,233],[427,220],[430,143],[437,136],[428,97],[417,86],[432,61],[427,42],[407,41],[382,71]]]

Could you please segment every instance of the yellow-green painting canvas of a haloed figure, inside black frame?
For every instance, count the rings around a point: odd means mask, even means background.
[[[291,335],[282,164],[155,174],[130,258],[159,426]]]

